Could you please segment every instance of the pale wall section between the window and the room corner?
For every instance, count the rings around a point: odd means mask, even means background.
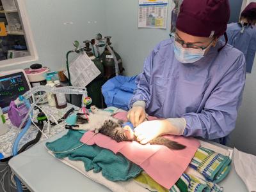
[[[39,61],[51,70],[65,68],[65,55],[74,47],[72,42],[92,39],[106,33],[106,10],[102,0],[24,0]],[[88,24],[88,21],[91,23]],[[95,23],[95,21],[97,23]],[[64,25],[64,22],[73,22]],[[72,59],[72,57],[70,57]],[[30,65],[20,64],[0,68],[12,70]]]

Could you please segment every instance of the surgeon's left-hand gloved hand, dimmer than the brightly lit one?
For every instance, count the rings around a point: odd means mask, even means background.
[[[131,121],[132,125],[135,128],[136,126],[141,124],[141,122],[145,121],[146,119],[145,108],[140,106],[132,107],[127,114],[127,119]]]

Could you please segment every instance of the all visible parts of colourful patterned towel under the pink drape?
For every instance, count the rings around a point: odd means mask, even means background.
[[[165,192],[221,192],[223,189],[216,184],[230,171],[231,159],[218,152],[199,147],[189,167],[170,190],[164,188],[145,172],[134,180],[150,191]]]

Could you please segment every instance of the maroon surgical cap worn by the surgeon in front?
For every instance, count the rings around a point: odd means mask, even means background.
[[[183,0],[176,27],[200,37],[221,36],[230,17],[228,0]]]

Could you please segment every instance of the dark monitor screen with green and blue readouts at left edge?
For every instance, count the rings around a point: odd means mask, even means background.
[[[7,112],[10,102],[29,91],[24,73],[17,72],[0,77],[0,107]]]

